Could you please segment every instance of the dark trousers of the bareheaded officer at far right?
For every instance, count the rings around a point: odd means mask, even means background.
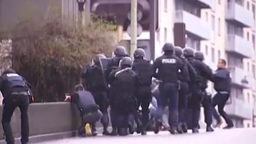
[[[224,111],[224,107],[228,99],[229,99],[229,94],[220,94],[219,92],[217,92],[217,94],[213,97],[212,112],[213,112],[213,117],[215,117],[217,121],[220,121],[220,116],[222,116],[225,119],[228,126],[233,126],[232,120],[229,118],[228,114],[226,114],[226,112]],[[219,111],[220,116],[215,109],[216,105],[217,105],[217,109]]]

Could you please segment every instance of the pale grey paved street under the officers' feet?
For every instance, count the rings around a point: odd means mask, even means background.
[[[255,144],[256,143],[256,129],[231,129],[221,130],[217,129],[213,133],[206,133],[201,130],[199,134],[184,134],[184,135],[170,135],[168,132],[161,132],[158,135],[148,133],[147,136],[132,135],[126,137],[110,137],[97,136],[72,139],[54,140],[43,142],[47,144],[55,143],[103,143],[103,144]]]

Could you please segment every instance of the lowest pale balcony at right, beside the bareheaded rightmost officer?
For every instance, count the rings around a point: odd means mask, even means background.
[[[231,104],[227,104],[225,107],[226,113],[231,117],[238,117],[242,119],[251,120],[253,115],[253,108],[244,100],[231,97]]]

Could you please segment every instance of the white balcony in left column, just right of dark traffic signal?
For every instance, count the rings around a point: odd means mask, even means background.
[[[176,11],[175,15],[175,23],[185,23],[187,34],[190,34],[200,40],[210,39],[210,25],[201,20],[200,17],[183,10]]]

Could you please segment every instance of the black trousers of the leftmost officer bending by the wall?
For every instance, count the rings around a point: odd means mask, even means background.
[[[6,141],[8,144],[14,144],[14,136],[11,130],[11,117],[16,107],[21,111],[21,143],[28,142],[29,124],[28,124],[28,105],[30,97],[28,95],[9,95],[5,98],[4,109],[2,113],[2,127],[4,129]]]

